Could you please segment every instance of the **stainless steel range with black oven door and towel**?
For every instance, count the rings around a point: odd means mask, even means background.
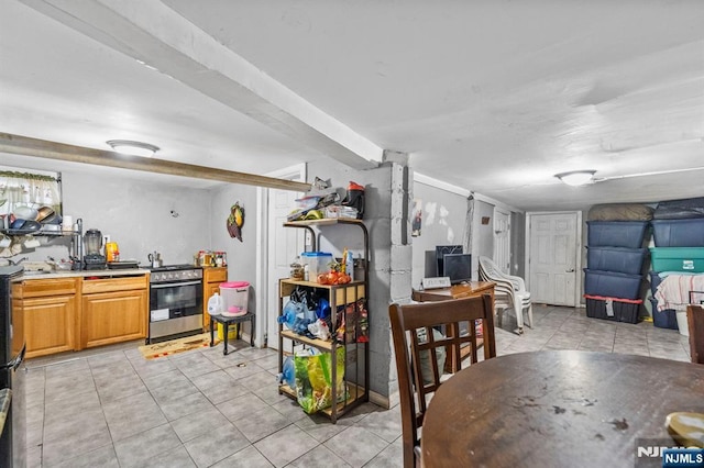
[[[202,269],[166,265],[151,270],[146,342],[202,333]]]

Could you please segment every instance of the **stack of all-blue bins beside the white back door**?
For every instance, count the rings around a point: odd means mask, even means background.
[[[644,248],[652,209],[603,204],[590,210],[584,269],[586,315],[638,323],[642,310]]]

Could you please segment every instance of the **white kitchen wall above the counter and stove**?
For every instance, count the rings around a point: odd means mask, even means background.
[[[122,259],[147,266],[147,255],[158,250],[164,264],[191,264],[195,253],[211,245],[210,190],[105,171],[63,171],[62,178],[64,214],[82,219],[84,232],[95,227],[110,235]],[[172,210],[178,215],[173,216]],[[31,261],[44,261],[48,255],[68,258],[68,237],[38,239],[41,247],[20,256]]]

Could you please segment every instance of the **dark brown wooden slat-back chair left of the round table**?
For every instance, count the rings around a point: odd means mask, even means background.
[[[388,308],[398,372],[398,390],[403,425],[404,467],[421,466],[419,430],[429,398],[446,379],[441,355],[452,363],[477,363],[483,347],[484,359],[496,356],[492,297],[421,302]],[[477,333],[476,320],[482,320]],[[465,322],[466,331],[461,330]],[[444,325],[444,335],[437,328]],[[481,335],[481,336],[480,336]],[[439,363],[440,360],[440,363]],[[451,368],[459,370],[460,365]]]

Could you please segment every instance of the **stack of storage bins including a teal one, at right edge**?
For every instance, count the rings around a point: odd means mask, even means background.
[[[651,224],[656,245],[650,248],[653,296],[662,281],[661,274],[704,272],[704,198],[660,202]],[[680,333],[686,334],[684,312],[676,313],[673,309],[657,312],[657,301],[651,299],[651,303],[656,326],[680,328]]]

